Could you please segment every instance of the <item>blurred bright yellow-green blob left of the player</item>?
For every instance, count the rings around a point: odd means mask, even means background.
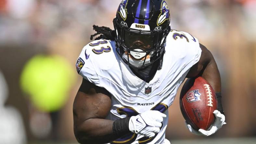
[[[59,110],[67,101],[75,73],[60,56],[36,55],[24,66],[21,89],[40,111]]]

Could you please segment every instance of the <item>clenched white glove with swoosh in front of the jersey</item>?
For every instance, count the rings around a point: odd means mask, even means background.
[[[165,114],[152,110],[132,116],[129,121],[129,130],[149,138],[154,137],[159,133],[164,117],[166,117]]]

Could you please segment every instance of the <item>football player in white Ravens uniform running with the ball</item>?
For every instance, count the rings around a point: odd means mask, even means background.
[[[76,63],[83,82],[73,104],[74,133],[81,144],[169,144],[168,107],[185,78],[201,76],[217,91],[216,120],[209,136],[225,121],[221,80],[209,50],[191,34],[170,28],[164,0],[123,0],[115,30],[94,26],[96,41]]]

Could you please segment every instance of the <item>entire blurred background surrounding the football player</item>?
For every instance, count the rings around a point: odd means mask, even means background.
[[[0,144],[76,144],[75,63],[94,34],[113,29],[121,0],[0,0]],[[256,0],[166,0],[171,28],[197,37],[222,77],[227,125],[209,138],[185,127],[178,98],[173,144],[256,143]],[[179,95],[179,93],[178,93]]]

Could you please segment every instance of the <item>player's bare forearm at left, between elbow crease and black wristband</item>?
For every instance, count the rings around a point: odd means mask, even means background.
[[[81,144],[106,144],[114,141],[120,136],[114,134],[113,123],[114,121],[106,119],[88,119],[74,127],[76,139]],[[129,132],[127,130],[127,134]]]

